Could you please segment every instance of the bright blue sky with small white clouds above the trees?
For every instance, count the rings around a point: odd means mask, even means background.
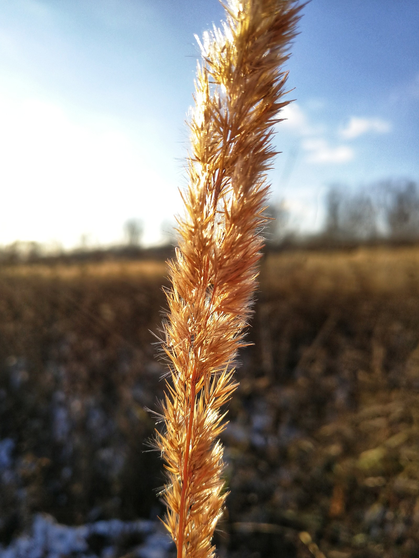
[[[159,242],[181,209],[194,33],[217,0],[0,3],[0,244]],[[419,180],[417,0],[312,0],[288,63],[272,199],[315,229],[330,184]]]

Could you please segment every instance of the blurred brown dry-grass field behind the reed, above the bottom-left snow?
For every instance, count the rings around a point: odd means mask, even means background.
[[[419,556],[419,248],[270,253],[260,279],[220,552]],[[158,261],[0,269],[4,543],[36,511],[162,513],[144,408],[163,388],[163,282]]]

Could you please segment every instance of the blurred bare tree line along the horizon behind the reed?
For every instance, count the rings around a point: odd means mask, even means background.
[[[419,240],[419,185],[413,180],[387,180],[363,189],[353,190],[343,184],[331,185],[325,198],[325,219],[321,230],[310,236],[293,228],[292,215],[285,199],[271,203],[265,211],[267,222],[263,235],[270,247],[284,244],[363,243],[371,241],[415,242]],[[131,218],[123,224],[123,240],[112,248],[115,252],[143,247],[144,223]],[[107,248],[90,246],[80,241],[74,253],[106,251]],[[172,222],[161,225],[161,236],[166,246],[176,244]],[[0,247],[0,262],[37,261],[47,254],[65,251],[57,244],[47,251],[37,242],[16,240]]]

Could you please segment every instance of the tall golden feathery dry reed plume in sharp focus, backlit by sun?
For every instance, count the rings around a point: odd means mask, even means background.
[[[189,186],[170,262],[163,434],[168,475],[166,527],[178,558],[214,555],[211,539],[223,492],[222,406],[237,384],[232,368],[258,275],[270,144],[283,100],[289,43],[301,7],[295,0],[230,0],[222,29],[199,41],[192,111]]]

